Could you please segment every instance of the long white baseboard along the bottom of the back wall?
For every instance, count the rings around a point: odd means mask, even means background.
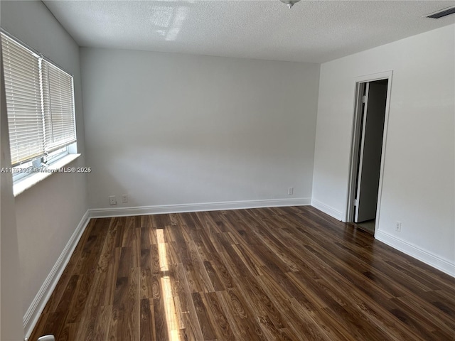
[[[132,215],[159,215],[163,213],[201,212],[218,210],[240,210],[258,207],[305,206],[310,205],[308,197],[293,199],[245,200],[225,202],[203,202],[198,204],[156,205],[139,207],[95,208],[89,210],[89,217],[127,217]]]

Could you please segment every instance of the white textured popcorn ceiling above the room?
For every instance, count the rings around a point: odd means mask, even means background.
[[[80,46],[323,63],[455,22],[455,1],[43,1]]]

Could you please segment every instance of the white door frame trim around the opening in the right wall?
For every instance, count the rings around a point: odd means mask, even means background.
[[[358,151],[360,148],[360,122],[363,112],[363,88],[365,83],[374,82],[375,80],[387,80],[387,99],[385,102],[385,119],[384,119],[384,131],[382,134],[382,152],[381,152],[381,163],[380,163],[380,175],[379,175],[379,189],[378,189],[378,204],[376,207],[376,222],[375,232],[379,226],[380,217],[380,203],[382,197],[382,175],[384,173],[384,161],[385,161],[385,148],[387,145],[387,126],[389,123],[389,111],[390,111],[390,93],[392,90],[392,74],[393,71],[379,72],[372,75],[364,75],[354,78],[355,85],[355,96],[354,96],[354,113],[353,113],[353,124],[350,142],[350,160],[349,160],[349,177],[348,177],[348,197],[346,200],[346,222],[353,222],[354,220],[354,200],[357,185],[357,170],[358,170]]]

